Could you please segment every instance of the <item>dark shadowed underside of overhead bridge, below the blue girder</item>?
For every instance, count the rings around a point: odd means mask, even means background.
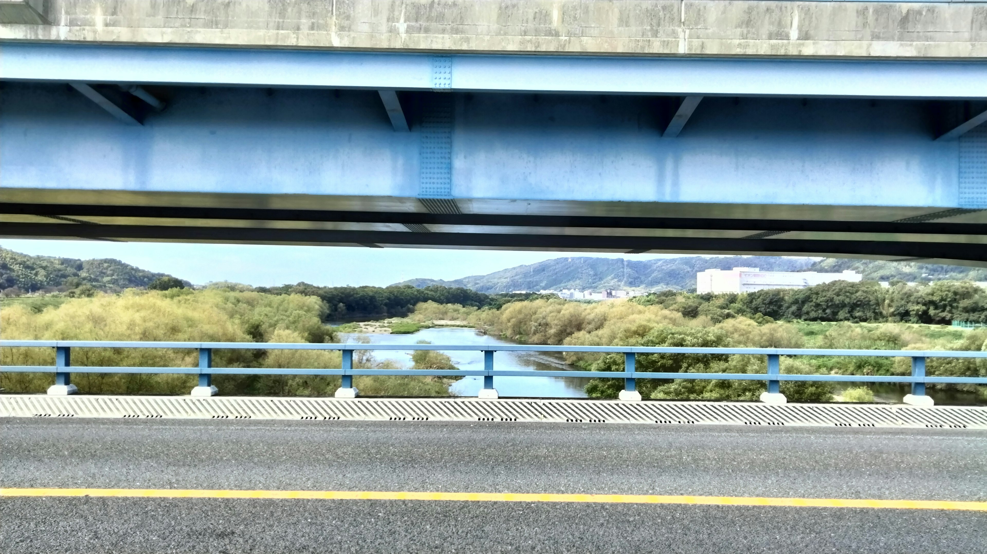
[[[963,209],[935,211],[934,220],[922,222],[932,210],[456,198],[458,213],[433,213],[419,198],[2,193],[0,234],[8,238],[836,256],[987,266],[983,212]],[[875,221],[875,214],[885,219]]]

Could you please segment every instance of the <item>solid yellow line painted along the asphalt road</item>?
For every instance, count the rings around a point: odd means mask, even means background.
[[[661,495],[556,495],[527,493],[414,493],[389,491],[210,491],[202,489],[3,489],[0,497],[139,497],[196,499],[416,500],[459,502],[573,502],[590,504],[686,504],[789,506],[797,508],[890,508],[987,512],[987,502],[858,500]]]

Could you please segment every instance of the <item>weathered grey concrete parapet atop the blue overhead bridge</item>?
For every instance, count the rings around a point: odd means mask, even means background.
[[[7,3],[10,3],[8,0]],[[24,4],[24,2],[14,2]],[[553,52],[969,58],[987,4],[761,0],[46,0],[0,40]]]

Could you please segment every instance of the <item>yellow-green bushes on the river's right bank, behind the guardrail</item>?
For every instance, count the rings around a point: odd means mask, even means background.
[[[940,298],[941,295],[933,294],[932,297]],[[658,300],[667,300],[669,306]],[[696,295],[668,293],[650,299],[645,297],[641,301],[581,303],[540,299],[513,302],[496,310],[436,305],[422,305],[419,310],[433,319],[456,319],[465,315],[488,333],[530,344],[957,351],[985,350],[987,345],[987,329],[962,331],[910,323],[779,322],[760,314],[745,317],[732,313],[730,317],[722,318],[721,313],[713,313],[710,309],[707,313],[699,311],[703,306],[715,306],[716,298],[701,302],[698,308],[695,300]],[[740,305],[747,301],[743,297],[732,300],[733,304]],[[624,366],[623,357],[614,355],[569,354],[567,361],[601,371],[622,371]],[[987,376],[987,363],[983,360],[930,358],[927,363],[930,375]],[[764,373],[765,359],[764,356],[653,355],[639,356],[637,368],[660,372]],[[782,359],[782,371],[789,373],[907,375],[910,370],[910,360],[904,357],[799,356]],[[782,392],[792,401],[829,400],[833,392],[827,383],[783,382],[782,386]],[[943,388],[949,386],[943,385]],[[650,398],[755,400],[764,391],[765,384],[740,380],[642,379],[638,387]],[[586,387],[586,392],[592,397],[612,398],[621,388],[620,379],[595,379]],[[952,388],[980,394],[987,399],[984,387],[956,385]],[[861,394],[858,391],[851,396],[861,398]]]

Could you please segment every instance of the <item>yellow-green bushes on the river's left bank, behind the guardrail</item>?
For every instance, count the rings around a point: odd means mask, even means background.
[[[0,311],[4,339],[101,341],[216,341],[216,342],[333,342],[332,328],[323,323],[325,302],[300,294],[264,294],[229,289],[167,291],[129,289],[120,294],[95,294],[63,299],[40,310],[21,303]],[[437,354],[437,353],[436,353]],[[4,365],[51,365],[52,349],[0,349]],[[425,356],[422,363],[441,363]],[[413,360],[418,364],[418,360]],[[340,367],[339,352],[216,351],[213,363],[223,367]],[[73,365],[195,366],[194,351],[155,349],[77,349]],[[370,351],[357,351],[355,367],[395,367],[376,360]],[[193,375],[74,373],[83,393],[188,394]],[[448,379],[418,376],[357,376],[355,386],[369,396],[444,396]],[[43,392],[52,384],[49,373],[0,373],[7,392]],[[327,396],[340,386],[336,376],[216,375],[224,394]]]

